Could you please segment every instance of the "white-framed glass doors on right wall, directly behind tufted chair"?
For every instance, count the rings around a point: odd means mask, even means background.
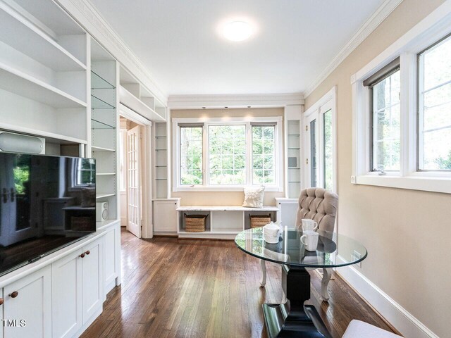
[[[302,187],[322,187],[336,192],[336,87],[303,114],[304,142]]]

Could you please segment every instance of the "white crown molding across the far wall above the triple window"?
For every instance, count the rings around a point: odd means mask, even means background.
[[[246,108],[284,107],[304,104],[304,96],[298,94],[220,94],[220,95],[171,95],[168,108]]]

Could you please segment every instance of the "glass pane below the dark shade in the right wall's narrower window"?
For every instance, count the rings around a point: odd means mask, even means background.
[[[400,170],[400,71],[372,89],[373,170]]]

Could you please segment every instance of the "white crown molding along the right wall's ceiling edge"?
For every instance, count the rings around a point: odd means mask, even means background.
[[[369,35],[376,30],[378,25],[381,25],[383,20],[392,13],[397,6],[399,6],[402,3],[403,0],[385,0],[383,4],[377,9],[371,17],[366,20],[366,22],[362,25],[362,27],[359,28],[359,30],[354,34],[354,36],[350,39],[347,44],[338,52],[338,54],[333,58],[332,61],[324,68],[324,70],[321,72],[319,77],[316,77],[316,80],[307,88],[307,90],[304,92],[304,97],[309,96],[316,87],[321,84],[326,78],[335,70],[335,68],[342,63],[342,61],[349,56],[354,49],[359,46],[362,42],[364,42],[364,39],[369,37]]]

